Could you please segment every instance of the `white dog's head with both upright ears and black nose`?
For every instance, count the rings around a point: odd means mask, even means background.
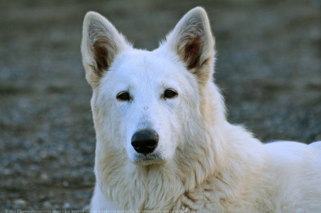
[[[204,9],[189,11],[153,51],[132,48],[105,17],[89,12],[81,50],[102,147],[146,165],[171,160],[187,135],[196,137],[189,121],[201,114],[200,90],[214,63]]]

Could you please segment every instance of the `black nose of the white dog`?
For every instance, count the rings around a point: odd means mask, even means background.
[[[154,151],[158,143],[158,133],[145,129],[136,131],[131,138],[131,145],[138,153],[148,154]]]

